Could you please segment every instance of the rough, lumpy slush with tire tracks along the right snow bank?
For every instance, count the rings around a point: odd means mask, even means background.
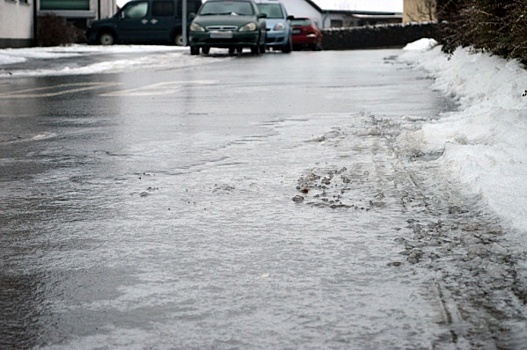
[[[353,154],[348,166],[314,167],[298,181],[293,201],[313,207],[399,211],[396,240],[407,264],[436,272],[425,289],[448,336],[434,349],[519,349],[527,344],[525,253],[507,242],[500,219],[435,160],[401,148],[402,121],[362,116],[310,140]],[[408,123],[408,122],[406,122]],[[362,159],[362,160],[361,160]],[[348,162],[349,163],[349,162]],[[394,262],[399,264],[399,262]]]

